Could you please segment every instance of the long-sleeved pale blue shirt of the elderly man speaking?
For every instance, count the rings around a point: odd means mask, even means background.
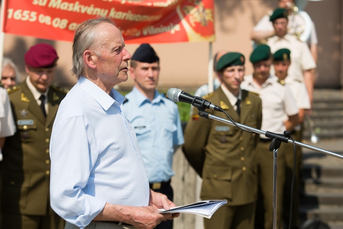
[[[80,77],[59,105],[51,142],[52,209],[84,228],[105,203],[147,206],[149,184],[124,97]]]

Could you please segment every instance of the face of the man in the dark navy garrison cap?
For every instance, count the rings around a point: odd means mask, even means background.
[[[145,63],[137,61],[136,68],[130,67],[130,75],[137,88],[143,91],[154,90],[159,81],[160,63]]]

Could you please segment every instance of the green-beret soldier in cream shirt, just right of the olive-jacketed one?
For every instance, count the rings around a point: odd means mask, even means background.
[[[251,54],[254,73],[244,76],[241,88],[258,93],[262,100],[262,130],[273,133],[291,131],[298,124],[298,108],[287,85],[277,82],[269,73],[272,55],[268,45],[258,46]],[[261,135],[256,148],[260,193],[257,201],[255,228],[272,228],[273,217],[273,152],[269,152],[271,139]],[[285,184],[285,145],[277,156],[277,216],[276,227],[283,228],[282,200]],[[261,204],[261,205],[260,205]],[[258,215],[260,214],[260,215]],[[264,221],[263,221],[264,219]]]

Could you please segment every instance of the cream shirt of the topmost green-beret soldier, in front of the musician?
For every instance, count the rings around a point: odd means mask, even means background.
[[[268,39],[267,45],[272,53],[281,48],[291,50],[291,65],[288,69],[288,77],[291,79],[303,82],[303,72],[317,67],[308,46],[291,35],[287,34],[283,38],[273,36]],[[274,74],[274,68],[271,68],[270,74]]]

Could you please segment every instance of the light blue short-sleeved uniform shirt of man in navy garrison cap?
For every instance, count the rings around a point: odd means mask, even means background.
[[[150,101],[136,87],[126,98],[123,112],[135,129],[149,182],[169,181],[174,146],[184,142],[177,105],[158,91]]]

